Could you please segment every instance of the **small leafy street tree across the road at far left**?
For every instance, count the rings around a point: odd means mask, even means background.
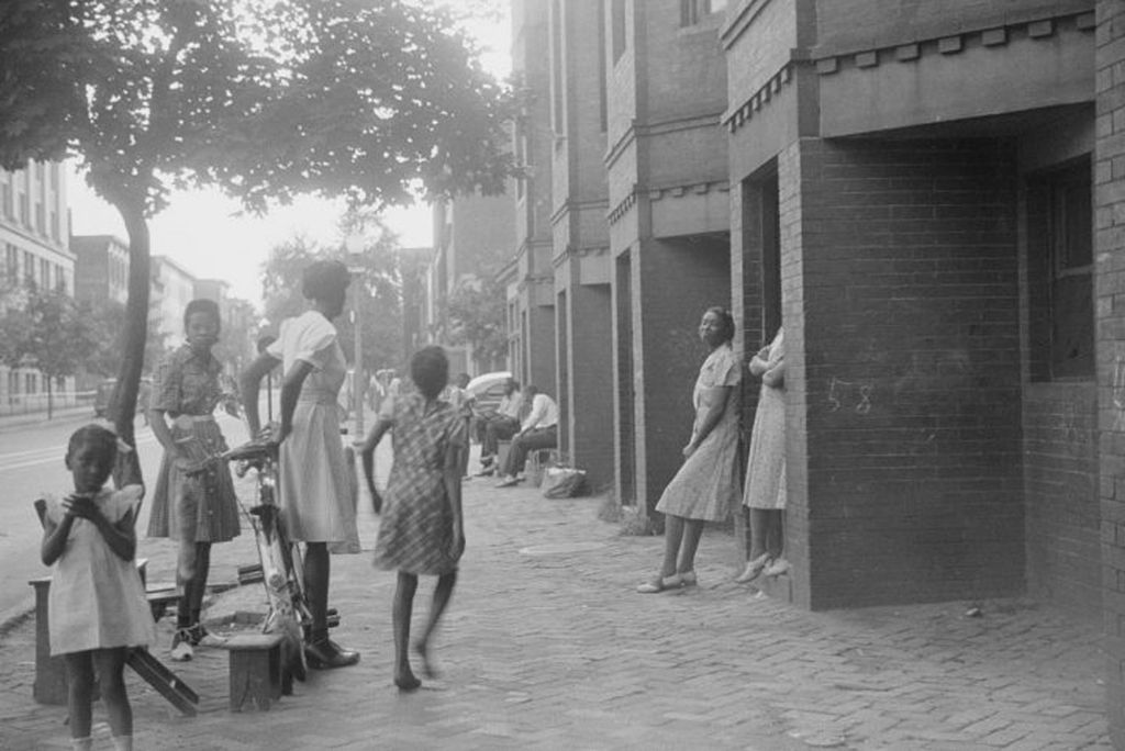
[[[73,376],[94,349],[93,332],[74,298],[61,289],[29,287],[22,304],[0,316],[2,358],[9,368],[35,368],[47,387],[47,419],[54,416],[54,387]]]

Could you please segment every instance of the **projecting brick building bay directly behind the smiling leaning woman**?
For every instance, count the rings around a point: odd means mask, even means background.
[[[691,433],[702,313],[731,299],[719,4],[605,3],[615,485],[645,509]]]

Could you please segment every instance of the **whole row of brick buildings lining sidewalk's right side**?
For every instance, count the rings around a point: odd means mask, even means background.
[[[531,180],[506,268],[546,277],[549,165],[562,440],[605,413],[582,378],[609,377],[615,489],[645,509],[680,464],[703,307],[731,301],[741,353],[784,324],[772,594],[1101,619],[1119,748],[1123,29],[1123,0],[519,2]]]

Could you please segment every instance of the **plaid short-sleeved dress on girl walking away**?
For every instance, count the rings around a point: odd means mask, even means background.
[[[448,401],[428,407],[420,393],[388,399],[380,415],[392,422],[395,463],[382,501],[375,565],[407,573],[457,570],[453,512],[446,498],[446,452],[466,445],[465,419]]]

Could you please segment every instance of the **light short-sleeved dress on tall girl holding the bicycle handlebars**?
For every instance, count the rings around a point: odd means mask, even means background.
[[[298,360],[313,367],[297,397],[292,433],[280,450],[281,515],[289,537],[333,543],[336,553],[358,553],[336,404],[348,363],[336,327],[320,311],[308,310],[281,322],[280,336],[267,352],[281,361],[285,372]]]

